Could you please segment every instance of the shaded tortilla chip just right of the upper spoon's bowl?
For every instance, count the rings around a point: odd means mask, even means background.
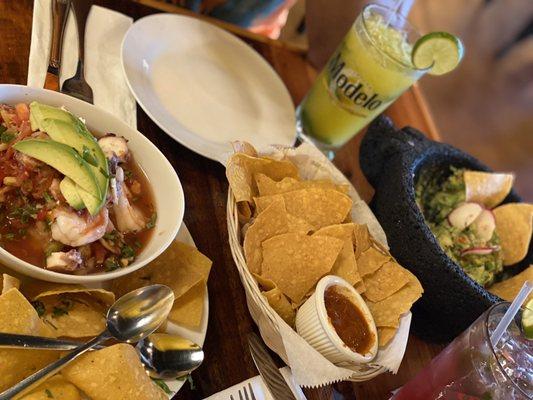
[[[205,282],[198,282],[183,296],[174,301],[168,319],[175,324],[198,328],[204,315],[204,302],[207,296]]]

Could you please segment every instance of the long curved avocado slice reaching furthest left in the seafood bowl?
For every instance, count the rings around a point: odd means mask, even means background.
[[[91,166],[72,147],[53,140],[27,139],[16,143],[13,148],[57,169],[102,204],[105,201]]]

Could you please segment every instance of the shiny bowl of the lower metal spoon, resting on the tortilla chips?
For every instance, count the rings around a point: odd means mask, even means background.
[[[166,333],[141,340],[137,352],[148,375],[158,379],[182,378],[204,361],[204,352],[196,343]]]

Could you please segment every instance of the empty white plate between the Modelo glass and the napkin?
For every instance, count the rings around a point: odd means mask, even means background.
[[[122,66],[148,116],[205,157],[221,160],[233,140],[294,144],[294,105],[279,76],[214,25],[174,14],[141,18],[124,37]]]

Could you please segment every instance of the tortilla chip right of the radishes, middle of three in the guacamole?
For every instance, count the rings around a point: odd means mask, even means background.
[[[503,265],[513,265],[527,255],[533,232],[533,204],[509,203],[492,210],[500,237]]]

